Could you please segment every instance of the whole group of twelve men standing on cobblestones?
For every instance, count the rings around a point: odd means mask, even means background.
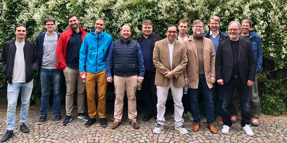
[[[228,134],[232,122],[236,122],[239,101],[241,126],[246,134],[253,135],[249,126],[251,117],[251,124],[259,125],[260,102],[256,73],[262,66],[262,47],[260,37],[250,31],[250,19],[244,19],[241,22],[242,27],[238,22],[230,22],[229,36],[219,30],[220,19],[216,16],[209,19],[210,31],[206,34],[203,34],[204,23],[201,20],[193,22],[192,35],[187,34],[188,21],[180,20],[178,26],[167,26],[165,39],[153,33],[152,22],[145,20],[142,22],[143,34],[137,41],[130,38],[131,27],[126,24],[121,27],[121,38],[113,41],[105,30],[106,22],[103,18],[96,19],[95,27],[90,33],[79,26],[80,20],[76,14],[70,14],[68,22],[69,29],[59,33],[55,30],[54,19],[46,18],[46,31],[39,33],[36,46],[33,42],[25,40],[26,27],[17,24],[14,29],[16,39],[5,42],[1,67],[8,80],[8,108],[7,132],[1,142],[14,136],[20,88],[20,130],[24,133],[30,132],[25,122],[37,65],[42,92],[38,124],[43,124],[47,119],[51,82],[54,123],[61,121],[61,82],[64,73],[67,93],[66,116],[62,125],[69,125],[72,121],[71,114],[77,89],[78,118],[87,121],[85,127],[90,127],[96,122],[97,113],[101,127],[107,127],[107,82],[114,82],[116,99],[111,128],[116,129],[121,124],[123,98],[126,92],[128,118],[133,128],[138,129],[135,96],[137,80],[142,84],[146,105],[143,121],[155,117],[157,125],[154,133],[159,134],[164,128],[165,103],[169,89],[174,101],[175,129],[182,134],[188,133],[183,126],[182,117],[185,116],[194,120],[193,130],[199,131],[199,86],[205,102],[204,122],[208,124],[212,133],[217,133],[213,123],[216,118],[218,124],[223,124],[222,133]],[[85,82],[81,79],[84,74]],[[215,105],[213,84],[216,90]],[[99,96],[97,107],[94,98],[96,86]],[[188,86],[188,94],[185,95],[184,86]],[[88,115],[84,113],[85,89]]]

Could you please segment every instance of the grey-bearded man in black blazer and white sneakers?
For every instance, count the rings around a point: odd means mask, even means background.
[[[241,127],[247,135],[253,136],[250,128],[250,86],[253,85],[256,74],[256,63],[250,41],[239,38],[241,24],[232,21],[228,24],[229,39],[219,42],[215,73],[217,83],[223,85],[222,121],[223,134],[228,134],[232,125],[231,101],[235,88],[241,103]]]

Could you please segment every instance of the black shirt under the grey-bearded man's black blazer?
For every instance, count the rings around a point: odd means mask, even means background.
[[[233,55],[233,68],[231,73],[231,78],[235,78],[235,75],[240,76],[239,72],[239,64],[238,64],[238,40],[237,41],[231,41],[231,47],[232,47],[232,55]]]

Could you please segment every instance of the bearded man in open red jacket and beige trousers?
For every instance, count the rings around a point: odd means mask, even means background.
[[[66,117],[63,121],[63,125],[69,125],[72,121],[72,109],[74,104],[74,92],[77,83],[77,103],[78,103],[78,118],[88,121],[90,118],[84,113],[84,101],[85,101],[85,83],[81,80],[79,73],[79,52],[82,46],[84,37],[88,32],[82,27],[79,27],[79,17],[76,14],[70,14],[68,16],[68,22],[70,27],[67,31],[64,31],[59,37],[56,55],[57,64],[56,68],[63,70],[66,78]]]

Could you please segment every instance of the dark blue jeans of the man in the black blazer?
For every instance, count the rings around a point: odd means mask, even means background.
[[[243,84],[241,78],[230,78],[228,83],[223,84],[223,103],[222,103],[222,121],[224,125],[229,127],[231,123],[231,103],[235,88],[238,91],[239,101],[241,105],[241,127],[245,124],[250,124],[251,112],[250,112],[250,87]]]

